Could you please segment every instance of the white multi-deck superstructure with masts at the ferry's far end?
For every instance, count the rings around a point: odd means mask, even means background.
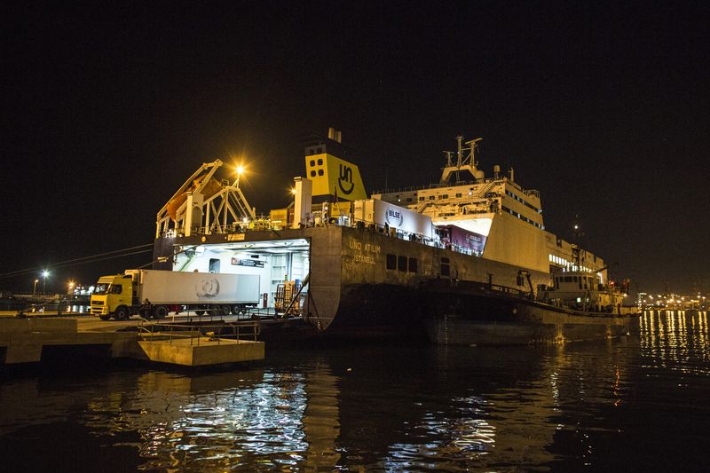
[[[480,140],[457,138],[458,149],[446,153],[438,185],[374,193],[373,198],[430,217],[445,243],[486,259],[540,272],[603,268],[600,258],[545,230],[540,193],[518,185],[513,169],[501,173],[496,165],[493,177],[485,177],[476,161]]]

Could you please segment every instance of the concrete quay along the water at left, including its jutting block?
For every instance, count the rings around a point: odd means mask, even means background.
[[[137,331],[139,322],[105,322],[93,317],[0,318],[0,364],[37,363],[43,361],[43,352],[50,347],[82,346],[102,346],[111,358],[185,367],[264,359],[264,342],[204,336],[197,331],[182,332],[181,336],[177,332],[162,334],[160,330],[170,327],[170,322],[146,333]]]

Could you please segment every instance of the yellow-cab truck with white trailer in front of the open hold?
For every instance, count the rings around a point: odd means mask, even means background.
[[[99,278],[91,294],[91,314],[102,320],[132,315],[161,319],[170,311],[227,315],[254,307],[259,300],[255,274],[126,270]]]

